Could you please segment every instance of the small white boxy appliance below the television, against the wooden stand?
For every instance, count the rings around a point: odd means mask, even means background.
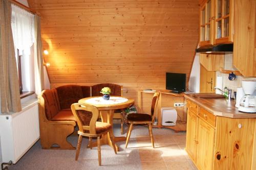
[[[173,107],[162,107],[162,126],[175,126],[177,121],[177,111]]]

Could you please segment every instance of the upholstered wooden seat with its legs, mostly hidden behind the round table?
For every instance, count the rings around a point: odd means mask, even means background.
[[[123,86],[114,84],[114,83],[101,83],[101,84],[93,85],[92,96],[101,96],[102,94],[100,93],[100,91],[103,87],[110,87],[111,89],[110,95],[123,96]],[[123,115],[122,115],[123,111],[124,110],[115,110],[115,113],[113,116],[113,119],[121,119],[121,134],[123,134]]]

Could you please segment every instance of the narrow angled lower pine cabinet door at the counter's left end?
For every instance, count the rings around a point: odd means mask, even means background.
[[[186,151],[188,155],[196,161],[197,143],[197,120],[198,117],[189,109],[187,111],[187,134],[186,134]]]

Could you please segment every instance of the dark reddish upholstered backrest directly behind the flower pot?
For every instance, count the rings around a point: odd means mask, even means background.
[[[101,83],[92,86],[92,96],[102,95],[100,91],[103,87],[109,87],[111,89],[110,95],[123,95],[123,86],[113,83]]]

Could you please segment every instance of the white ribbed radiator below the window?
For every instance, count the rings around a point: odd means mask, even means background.
[[[39,139],[37,100],[22,111],[0,115],[2,161],[16,163]]]

